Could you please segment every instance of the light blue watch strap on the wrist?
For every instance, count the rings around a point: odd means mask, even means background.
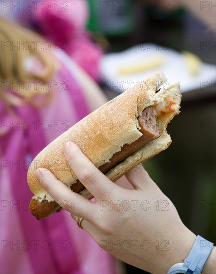
[[[212,248],[213,243],[198,235],[187,259],[183,264],[183,267],[188,268],[186,274],[200,274],[212,251]]]

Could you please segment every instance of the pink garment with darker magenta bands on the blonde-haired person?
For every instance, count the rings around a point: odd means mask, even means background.
[[[38,221],[28,210],[32,197],[26,181],[30,161],[89,113],[76,73],[72,73],[73,63],[67,65],[69,69],[62,64],[50,82],[55,100],[48,107],[14,107],[15,115],[11,115],[0,102],[1,128],[5,130],[0,150],[1,274],[118,273],[114,258],[79,229],[68,212]]]

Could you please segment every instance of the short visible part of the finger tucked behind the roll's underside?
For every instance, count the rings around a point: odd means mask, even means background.
[[[144,167],[139,164],[125,174],[127,180],[135,189],[144,189],[146,184],[152,183],[152,179]]]

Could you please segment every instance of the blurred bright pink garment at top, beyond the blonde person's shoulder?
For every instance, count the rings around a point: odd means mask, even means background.
[[[60,0],[58,5],[53,0],[46,2],[48,10],[38,5],[36,12],[32,14],[38,32],[63,49],[94,80],[99,81],[99,62],[103,52],[91,41],[90,33],[85,30],[89,17],[87,1]]]

